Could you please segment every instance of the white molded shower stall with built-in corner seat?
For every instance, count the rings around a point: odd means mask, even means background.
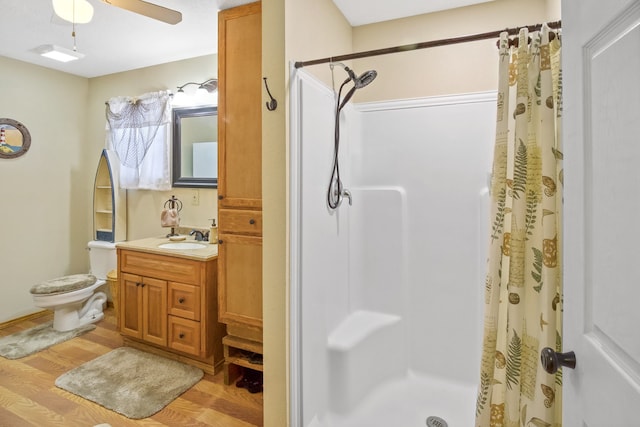
[[[347,105],[331,210],[334,92],[291,82],[291,425],[473,425],[495,92]]]

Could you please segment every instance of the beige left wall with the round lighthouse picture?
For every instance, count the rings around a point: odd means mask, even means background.
[[[0,322],[38,311],[35,283],[85,269],[88,93],[84,78],[0,57],[0,116],[31,134],[26,154],[0,159]]]

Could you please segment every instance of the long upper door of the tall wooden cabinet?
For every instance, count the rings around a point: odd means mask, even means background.
[[[220,207],[262,207],[261,3],[218,14]]]

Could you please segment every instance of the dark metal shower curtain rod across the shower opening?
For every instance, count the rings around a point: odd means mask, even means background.
[[[549,28],[554,29],[554,30],[562,28],[561,24],[562,24],[562,21],[554,21],[554,22],[547,23]],[[407,52],[407,51],[411,51],[411,50],[425,49],[425,48],[429,48],[429,47],[446,46],[446,45],[450,45],[450,44],[467,43],[467,42],[473,42],[473,41],[478,41],[478,40],[492,39],[492,38],[500,37],[500,34],[502,32],[504,32],[504,31],[509,33],[510,36],[514,36],[514,35],[518,34],[518,32],[520,31],[521,28],[527,28],[530,32],[533,32],[533,31],[539,31],[542,28],[542,25],[543,24],[536,24],[536,25],[528,25],[526,27],[505,28],[503,30],[490,31],[488,33],[473,34],[473,35],[469,35],[469,36],[461,36],[461,37],[454,37],[454,38],[450,38],[450,39],[433,40],[433,41],[421,42],[421,43],[411,43],[411,44],[406,44],[406,45],[403,45],[403,46],[395,46],[395,47],[388,47],[388,48],[383,48],[383,49],[367,50],[367,51],[364,51],[364,52],[350,53],[350,54],[347,54],[347,55],[330,56],[328,58],[314,59],[314,60],[311,60],[311,61],[298,61],[298,62],[295,63],[295,67],[296,68],[302,68],[302,67],[305,67],[307,65],[325,64],[327,62],[348,61],[350,59],[368,58],[370,56],[386,55],[386,54],[389,54],[389,53]]]

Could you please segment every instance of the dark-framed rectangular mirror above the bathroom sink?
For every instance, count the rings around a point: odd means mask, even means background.
[[[173,109],[174,187],[218,187],[218,108]]]

